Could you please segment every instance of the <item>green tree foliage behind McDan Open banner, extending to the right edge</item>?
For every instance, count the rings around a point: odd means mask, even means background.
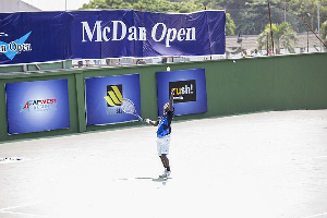
[[[242,33],[256,35],[269,23],[268,2],[271,20],[275,24],[288,22],[296,32],[306,32],[303,16],[315,31],[318,0],[90,0],[83,4],[85,9],[133,9],[152,12],[187,13],[207,10],[226,10],[227,35]],[[320,25],[327,21],[327,0],[319,0]]]

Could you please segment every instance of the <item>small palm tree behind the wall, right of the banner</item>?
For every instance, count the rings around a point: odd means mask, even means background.
[[[298,41],[296,33],[292,29],[289,23],[272,24],[272,38],[276,53],[280,53],[280,49],[284,48],[289,52],[294,53],[293,44]],[[258,50],[267,48],[267,36],[269,37],[269,49],[271,50],[272,41],[270,37],[270,24],[267,24],[265,31],[257,37]]]

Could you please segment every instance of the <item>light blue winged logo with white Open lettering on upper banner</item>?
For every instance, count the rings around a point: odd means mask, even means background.
[[[4,53],[7,58],[13,60],[17,53],[22,53],[24,51],[32,51],[32,45],[25,44],[31,33],[32,32],[11,43],[4,43],[0,40],[0,53]]]

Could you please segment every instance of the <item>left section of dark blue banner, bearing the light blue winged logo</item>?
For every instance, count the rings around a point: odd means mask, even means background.
[[[65,12],[0,14],[0,64],[71,57],[70,16]]]

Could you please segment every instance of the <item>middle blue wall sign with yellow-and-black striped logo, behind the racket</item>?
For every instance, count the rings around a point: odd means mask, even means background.
[[[140,74],[85,78],[85,96],[87,125],[138,120],[121,110],[123,98],[131,99],[141,116]]]

